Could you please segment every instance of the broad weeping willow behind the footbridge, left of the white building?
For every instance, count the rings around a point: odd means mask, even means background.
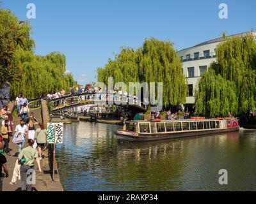
[[[187,85],[182,74],[180,57],[170,41],[146,39],[143,46],[134,50],[122,48],[115,60],[109,59],[104,68],[97,69],[98,81],[163,82],[164,106],[176,106],[186,101]]]

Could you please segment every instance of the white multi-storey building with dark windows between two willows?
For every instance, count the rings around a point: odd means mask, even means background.
[[[253,33],[256,36],[256,33]],[[234,34],[232,36],[245,36],[246,33]],[[216,61],[216,46],[223,38],[205,41],[194,47],[180,50],[178,55],[182,59],[182,71],[188,80],[188,96],[186,98],[185,110],[191,109],[195,104],[195,89],[201,76],[207,71],[210,64]]]

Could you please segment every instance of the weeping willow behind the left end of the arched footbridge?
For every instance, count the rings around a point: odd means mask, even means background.
[[[60,52],[40,56],[20,50],[15,59],[20,66],[17,80],[11,84],[12,96],[22,92],[28,98],[38,98],[54,89],[69,91],[76,84],[72,73],[65,72],[65,55]]]

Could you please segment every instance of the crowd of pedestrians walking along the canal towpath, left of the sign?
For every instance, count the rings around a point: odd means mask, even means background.
[[[42,150],[45,148],[47,131],[44,124],[39,123],[35,114],[30,112],[28,99],[24,95],[17,96],[15,105],[20,117],[19,124],[15,128],[13,127],[12,112],[8,106],[4,105],[0,110],[0,191],[3,190],[4,177],[10,175],[8,171],[9,157],[17,157],[10,184],[15,184],[21,177],[21,191],[31,191],[32,185],[27,183],[28,171],[35,169],[36,161],[38,170],[42,172],[40,160],[43,159]],[[10,149],[11,141],[15,143],[17,151]],[[26,148],[25,143],[27,143]],[[12,152],[13,154],[11,154]]]

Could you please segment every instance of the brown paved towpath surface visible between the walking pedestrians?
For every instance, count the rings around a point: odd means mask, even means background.
[[[35,113],[36,119],[38,119],[40,122],[42,121],[41,117],[41,109],[35,109],[31,110],[33,113]],[[15,130],[15,126],[19,124],[20,118],[15,117],[13,119],[13,131]],[[6,156],[6,159],[8,161],[8,169],[10,177],[4,178],[3,181],[3,191],[20,191],[20,180],[17,180],[17,184],[10,185],[10,181],[12,180],[13,175],[13,169],[15,167],[15,162],[17,161],[17,157],[13,156],[17,152],[18,148],[17,145],[12,143],[12,138],[10,141],[10,149],[12,151],[10,152],[12,156]],[[48,156],[47,152],[43,152],[44,156]],[[52,181],[51,174],[49,173],[49,164],[48,159],[45,157],[41,160],[41,168],[42,173],[38,171],[38,166],[35,164],[35,170],[36,170],[36,184],[33,185],[33,191],[63,191],[63,187],[60,182],[59,175],[55,175],[54,181]]]

